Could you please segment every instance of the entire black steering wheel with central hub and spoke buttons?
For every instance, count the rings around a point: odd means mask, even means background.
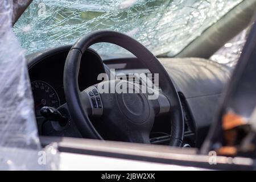
[[[151,73],[159,73],[162,92],[155,100],[147,93],[102,93],[98,85],[80,92],[78,76],[80,61],[87,48],[95,43],[113,43],[137,56]],[[103,63],[102,63],[103,64]],[[64,67],[64,92],[69,113],[82,137],[103,139],[91,117],[101,117],[101,125],[124,142],[150,143],[150,131],[155,116],[168,113],[171,116],[171,146],[181,146],[184,135],[183,111],[175,86],[158,59],[137,40],[115,31],[94,31],[82,36],[70,49]],[[101,82],[100,84],[102,84]],[[122,80],[109,80],[105,84],[123,84]],[[126,82],[130,91],[141,90],[138,84]],[[102,86],[102,85],[101,85]],[[106,85],[105,85],[106,86]],[[104,88],[104,86],[102,86]]]

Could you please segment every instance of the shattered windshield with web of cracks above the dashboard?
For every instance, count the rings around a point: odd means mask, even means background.
[[[14,26],[27,54],[73,44],[93,30],[132,36],[155,55],[175,56],[242,0],[34,0]],[[96,44],[101,55],[126,53]]]

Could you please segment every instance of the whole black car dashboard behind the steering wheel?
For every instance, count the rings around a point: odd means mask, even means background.
[[[44,119],[40,114],[43,106],[57,108],[65,104],[63,72],[70,48],[71,46],[62,46],[27,56],[39,134],[81,137],[74,123],[69,123],[65,128],[55,127],[54,123],[43,127]],[[230,70],[205,59],[160,58],[159,61],[167,69],[179,93],[185,121],[184,142],[192,147],[200,147],[213,120],[218,98],[229,80]],[[81,59],[78,80],[80,90],[100,82],[97,80],[98,74],[110,75],[112,68],[116,74],[150,73],[136,57],[104,57],[93,49],[88,49]],[[151,143],[168,144],[170,131],[170,117],[156,117],[150,135]]]

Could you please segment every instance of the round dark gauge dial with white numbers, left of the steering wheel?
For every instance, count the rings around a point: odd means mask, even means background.
[[[35,115],[41,117],[40,109],[43,106],[59,107],[60,100],[56,91],[51,85],[44,81],[33,81],[31,82],[31,89],[34,97],[35,104]]]

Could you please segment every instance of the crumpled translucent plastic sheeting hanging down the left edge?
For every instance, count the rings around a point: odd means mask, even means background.
[[[49,169],[39,164],[38,129],[24,49],[12,30],[27,0],[0,0],[0,169]],[[44,151],[44,154],[47,154]]]

